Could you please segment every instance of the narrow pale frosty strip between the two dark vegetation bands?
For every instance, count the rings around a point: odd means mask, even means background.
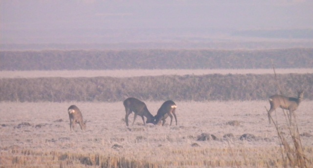
[[[313,73],[311,68],[276,69],[278,74]],[[205,74],[273,74],[272,69],[129,69],[129,70],[56,70],[56,71],[0,71],[0,78],[40,77],[136,77],[159,75],[205,75]]]

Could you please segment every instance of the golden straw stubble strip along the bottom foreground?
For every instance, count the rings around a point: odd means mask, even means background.
[[[163,167],[210,167],[210,168],[235,168],[235,167],[259,167],[259,168],[289,168],[286,161],[277,157],[279,147],[257,147],[257,148],[203,148],[197,143],[193,148],[170,149],[168,152],[159,154],[175,155],[173,160],[157,160],[149,157],[147,159],[136,159],[132,156],[119,156],[102,153],[73,153],[60,151],[42,151],[32,149],[14,149],[0,153],[2,164],[12,168],[45,167],[100,167],[100,168],[163,168]],[[11,149],[13,148],[13,149]],[[306,148],[310,152],[313,148]],[[145,152],[146,153],[146,152]],[[209,154],[211,153],[211,154]],[[148,153],[146,153],[149,155]],[[233,157],[233,155],[235,157]],[[188,156],[188,159],[183,157]],[[192,156],[199,156],[201,159],[192,159]],[[272,157],[276,156],[276,157]],[[154,156],[157,157],[157,156]],[[205,159],[207,157],[207,159]],[[230,159],[234,158],[234,159]],[[311,159],[309,161],[312,161]],[[289,162],[287,162],[289,163]],[[308,164],[311,165],[311,164]],[[291,166],[293,168],[294,166]],[[294,167],[297,168],[297,167]],[[305,168],[305,167],[301,167]]]

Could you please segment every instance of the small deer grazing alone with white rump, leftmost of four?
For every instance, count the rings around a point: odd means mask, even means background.
[[[86,122],[83,122],[83,115],[79,108],[76,105],[71,105],[68,107],[67,111],[69,116],[70,130],[72,130],[72,128],[74,129],[75,123],[78,123],[82,130],[85,130]]]

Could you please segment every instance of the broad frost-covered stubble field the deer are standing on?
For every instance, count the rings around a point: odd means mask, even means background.
[[[146,105],[156,115],[162,103]],[[79,125],[69,130],[67,108],[73,104],[87,121],[86,131]],[[0,167],[118,167],[121,162],[138,168],[282,167],[277,131],[268,125],[267,101],[176,104],[178,126],[144,126],[137,117],[127,127],[122,102],[1,102]],[[302,102],[295,113],[302,146],[312,162],[313,102]],[[273,117],[291,143],[282,110]],[[197,141],[202,133],[217,139]],[[223,138],[229,133],[233,137]],[[256,138],[240,140],[246,133]]]

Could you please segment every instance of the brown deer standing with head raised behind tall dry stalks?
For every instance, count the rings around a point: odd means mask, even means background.
[[[301,100],[303,99],[303,93],[303,90],[298,91],[298,98],[286,97],[277,94],[270,96],[268,99],[270,104],[270,109],[268,110],[268,123],[271,124],[270,113],[273,112],[277,107],[289,110],[291,121],[291,114],[293,114],[293,111],[296,110],[300,105]]]

